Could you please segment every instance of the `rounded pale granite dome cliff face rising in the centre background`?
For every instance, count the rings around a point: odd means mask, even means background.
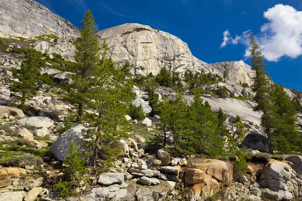
[[[147,75],[159,73],[162,67],[184,73],[186,70],[217,73],[229,72],[230,81],[251,84],[252,69],[243,61],[207,64],[194,57],[188,45],[172,34],[154,30],[140,24],[124,24],[98,33],[100,41],[106,40],[109,55],[116,63],[129,60],[133,73]]]

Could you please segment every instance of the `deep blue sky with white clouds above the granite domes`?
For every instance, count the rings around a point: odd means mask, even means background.
[[[207,63],[239,60],[249,63],[245,56],[246,33],[251,30],[264,48],[268,58],[266,70],[272,79],[302,90],[300,0],[37,1],[77,27],[90,9],[99,30],[139,23],[169,32],[186,42],[193,55]]]

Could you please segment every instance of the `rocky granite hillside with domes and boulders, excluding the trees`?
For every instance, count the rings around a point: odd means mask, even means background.
[[[302,156],[270,155],[267,138],[260,125],[261,113],[253,111],[251,99],[253,71],[243,61],[207,64],[194,57],[181,39],[161,30],[139,24],[124,24],[97,33],[100,42],[108,43],[109,55],[117,63],[133,64],[133,75],[158,74],[162,67],[169,71],[187,70],[217,74],[223,71],[229,78],[200,84],[202,98],[214,112],[219,108],[228,116],[224,125],[232,136],[239,115],[249,133],[238,147],[248,162],[248,172],[235,178],[236,158],[207,158],[205,155],[175,155],[149,146],[151,138],[161,135],[159,116],[142,121],[125,116],[129,121],[128,137],[108,141],[120,150],[112,161],[97,161],[89,168],[84,180],[70,197],[57,197],[54,184],[62,179],[64,162],[71,140],[80,146],[88,125],[72,120],[77,105],[64,95],[70,89],[74,47],[72,37],[77,28],[32,0],[0,0],[0,201],[60,200],[60,201],[145,201],[145,200],[298,200],[302,198]],[[10,107],[17,103],[11,85],[18,81],[24,52],[34,44],[45,64],[36,77],[40,86],[37,94],[26,102],[30,110]],[[45,53],[45,54],[42,54]],[[60,58],[63,56],[66,61]],[[72,66],[72,65],[71,65]],[[183,81],[183,80],[182,80]],[[183,81],[184,82],[184,81]],[[242,83],[246,83],[243,86]],[[137,86],[136,86],[137,85]],[[149,114],[149,94],[145,85],[133,85],[133,104],[142,105]],[[190,104],[192,92],[181,92]],[[217,90],[226,88],[228,97],[219,98]],[[292,91],[284,89],[294,97]],[[174,100],[173,88],[160,86],[155,93]],[[70,117],[70,119],[67,119]],[[299,119],[298,124],[302,126]],[[90,125],[89,125],[90,126]],[[228,149],[228,136],[223,138]],[[168,139],[171,140],[171,139]],[[236,145],[235,145],[236,146]],[[236,146],[236,149],[238,149]],[[80,150],[81,151],[81,150]]]

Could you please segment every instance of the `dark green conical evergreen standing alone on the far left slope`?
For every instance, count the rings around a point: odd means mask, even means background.
[[[36,94],[39,89],[36,84],[36,76],[39,74],[39,64],[40,58],[37,51],[32,46],[26,52],[25,60],[21,63],[21,69],[18,70],[17,78],[19,82],[14,82],[12,85],[11,95],[19,98],[21,100],[20,108],[26,109],[25,101]]]

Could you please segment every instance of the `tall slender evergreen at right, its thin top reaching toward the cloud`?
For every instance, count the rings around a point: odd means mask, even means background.
[[[267,134],[269,152],[272,152],[270,130],[273,128],[274,120],[269,100],[271,85],[267,72],[264,70],[266,64],[264,63],[264,55],[262,54],[263,50],[256,43],[252,33],[250,33],[250,39],[251,64],[253,70],[255,70],[255,77],[253,78],[254,84],[252,85],[252,89],[256,93],[254,100],[258,104],[254,110],[263,112],[261,117],[261,125],[264,127],[265,133]]]

